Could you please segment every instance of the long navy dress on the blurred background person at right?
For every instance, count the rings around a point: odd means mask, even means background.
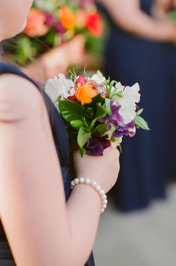
[[[152,0],[141,0],[150,14]],[[138,129],[121,144],[120,173],[114,200],[123,211],[146,207],[165,197],[168,178],[175,175],[175,66],[172,44],[143,40],[128,34],[111,20],[106,48],[106,77],[122,85],[140,85],[140,108],[150,131]],[[173,103],[172,103],[173,101]],[[172,112],[172,115],[171,115]]]

